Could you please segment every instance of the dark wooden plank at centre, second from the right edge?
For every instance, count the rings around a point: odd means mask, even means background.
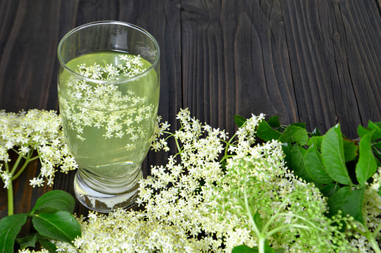
[[[235,131],[233,116],[298,119],[278,1],[182,1],[185,107]]]

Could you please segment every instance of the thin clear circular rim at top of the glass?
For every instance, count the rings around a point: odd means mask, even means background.
[[[135,30],[138,30],[139,32],[142,32],[143,34],[146,34],[146,36],[149,37],[149,39],[151,39],[151,41],[154,42],[154,45],[157,48],[157,54],[156,54],[156,58],[154,60],[154,63],[151,63],[151,66],[148,69],[146,69],[144,72],[142,72],[142,73],[136,74],[133,77],[125,77],[125,78],[117,79],[117,80],[92,79],[92,78],[89,78],[89,77],[85,77],[82,74],[79,74],[78,72],[75,72],[70,67],[68,67],[68,65],[65,63],[65,61],[61,57],[60,51],[61,51],[63,42],[66,39],[68,39],[68,37],[70,37],[70,35],[74,34],[75,32],[77,32],[79,30],[82,30],[82,29],[85,29],[87,27],[92,27],[94,25],[123,25],[123,26],[126,26],[126,27],[131,27],[131,28],[133,28]],[[75,27],[73,30],[70,30],[68,33],[66,33],[62,37],[61,41],[58,43],[57,58],[58,58],[59,63],[65,68],[65,70],[70,72],[70,74],[73,74],[76,77],[79,77],[80,79],[85,79],[88,82],[93,82],[93,83],[98,83],[98,84],[104,84],[104,83],[107,83],[107,84],[118,84],[118,83],[122,83],[122,82],[126,82],[126,81],[133,81],[133,80],[138,79],[139,77],[142,77],[142,76],[148,74],[149,72],[151,72],[151,70],[154,69],[154,67],[156,67],[156,65],[158,65],[158,62],[159,62],[159,59],[160,59],[160,48],[158,47],[158,42],[156,41],[154,36],[152,36],[149,32],[144,30],[142,27],[138,27],[137,25],[132,25],[132,24],[130,24],[128,22],[123,22],[123,21],[101,20],[101,21],[89,22],[87,24],[80,25],[78,27]]]

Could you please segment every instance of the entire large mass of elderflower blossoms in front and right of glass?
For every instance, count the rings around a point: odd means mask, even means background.
[[[256,246],[249,222],[256,213],[274,249],[354,252],[331,226],[342,217],[325,217],[326,201],[318,189],[287,170],[282,145],[254,145],[263,117],[248,119],[225,154],[225,131],[180,110],[181,128],[173,134],[180,150],[167,164],[151,167],[151,176],[140,182],[137,202],[144,209],[90,212],[87,219],[78,218],[81,237],[73,245],[55,242],[57,252],[230,253],[237,245]],[[157,126],[157,148],[166,147],[158,141],[164,129],[166,123]]]

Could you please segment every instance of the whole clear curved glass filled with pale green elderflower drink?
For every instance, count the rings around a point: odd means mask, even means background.
[[[79,165],[75,196],[89,209],[135,204],[158,112],[159,54],[151,34],[118,21],[82,25],[58,44],[60,115]]]

